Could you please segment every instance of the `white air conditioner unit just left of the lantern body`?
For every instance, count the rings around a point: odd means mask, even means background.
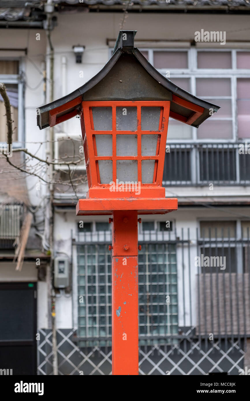
[[[55,134],[55,162],[58,162],[55,165],[56,170],[68,171],[68,166],[60,164],[60,162],[77,162],[79,157],[84,159],[83,142],[80,135]],[[76,165],[70,164],[70,167],[74,170],[86,170],[85,160]]]

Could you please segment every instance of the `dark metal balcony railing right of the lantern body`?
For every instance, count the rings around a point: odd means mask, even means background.
[[[235,143],[168,143],[164,186],[250,185],[250,154]]]

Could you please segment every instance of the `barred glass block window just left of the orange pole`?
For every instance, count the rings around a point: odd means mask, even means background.
[[[111,336],[111,255],[107,245],[77,246],[78,335],[87,345]],[[86,345],[84,343],[83,345]]]

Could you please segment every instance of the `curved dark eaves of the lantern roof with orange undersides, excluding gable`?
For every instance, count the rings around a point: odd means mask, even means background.
[[[102,79],[104,79],[104,77],[106,77],[106,75],[112,70],[112,68],[120,59],[121,55],[124,55],[124,53],[127,55],[133,55],[144,68],[144,70],[147,71],[147,73],[155,81],[157,81],[157,83],[169,91],[170,98],[166,98],[165,100],[171,101],[170,117],[198,128],[203,121],[210,117],[212,114],[211,110],[216,112],[218,109],[220,109],[220,106],[199,99],[184,89],[181,89],[169,79],[165,78],[148,62],[148,60],[137,48],[128,49],[126,47],[120,47],[115,50],[114,54],[106,63],[104,68],[87,83],[69,95],[37,108],[37,125],[39,126],[40,130],[49,126],[54,126],[55,124],[59,124],[60,122],[66,121],[67,119],[79,114],[81,101],[84,100],[84,93],[102,81]]]

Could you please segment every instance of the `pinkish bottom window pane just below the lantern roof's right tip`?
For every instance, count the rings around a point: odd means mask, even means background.
[[[232,121],[207,120],[197,129],[198,139],[230,139],[232,136]]]

